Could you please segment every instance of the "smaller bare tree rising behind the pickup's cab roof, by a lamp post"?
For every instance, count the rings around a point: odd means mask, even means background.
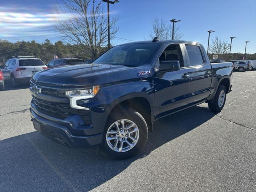
[[[162,40],[167,40],[172,38],[172,24],[164,20],[163,18],[154,18],[151,22],[152,31],[149,34],[149,38],[153,39],[154,37],[158,37]],[[174,26],[174,39],[182,38],[183,34],[180,32],[180,26],[176,24]]]

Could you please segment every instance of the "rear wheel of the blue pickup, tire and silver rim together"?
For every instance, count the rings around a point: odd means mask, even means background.
[[[225,105],[226,95],[226,87],[224,85],[220,85],[214,98],[208,101],[208,107],[210,108],[210,110],[212,110],[213,112],[220,112]]]

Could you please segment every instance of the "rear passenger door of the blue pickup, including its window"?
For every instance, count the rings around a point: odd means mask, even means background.
[[[212,82],[212,66],[204,49],[198,44],[185,44],[184,49],[188,68],[190,69],[190,100],[189,105],[206,100],[210,94]]]

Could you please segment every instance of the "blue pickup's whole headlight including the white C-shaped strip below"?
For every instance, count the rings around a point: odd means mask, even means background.
[[[100,90],[100,86],[94,86],[93,88],[88,88],[84,90],[66,91],[66,96],[69,98],[70,106],[72,108],[89,110],[89,108],[78,106],[76,104],[76,101],[80,99],[92,98],[98,93],[99,90]]]

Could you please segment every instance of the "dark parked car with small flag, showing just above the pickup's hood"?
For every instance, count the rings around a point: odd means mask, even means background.
[[[47,66],[49,68],[53,68],[53,67],[78,65],[78,64],[84,64],[84,60],[76,59],[76,58],[58,58],[58,59],[51,60]]]

